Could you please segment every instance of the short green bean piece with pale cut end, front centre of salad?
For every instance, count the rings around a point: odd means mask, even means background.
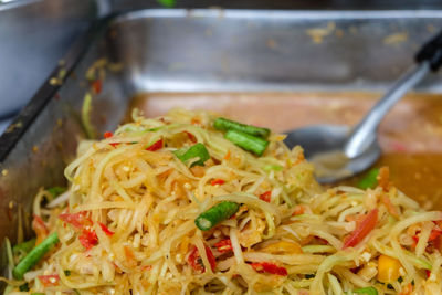
[[[220,202],[209,210],[202,212],[196,220],[194,224],[201,231],[208,231],[221,221],[230,219],[240,209],[240,204],[230,201]]]

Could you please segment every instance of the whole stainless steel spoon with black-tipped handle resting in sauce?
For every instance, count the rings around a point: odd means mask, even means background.
[[[391,107],[432,70],[442,63],[442,32],[418,52],[418,62],[356,125],[315,125],[287,131],[285,144],[301,145],[316,168],[322,183],[332,183],[368,169],[381,155],[377,140],[379,124]]]

